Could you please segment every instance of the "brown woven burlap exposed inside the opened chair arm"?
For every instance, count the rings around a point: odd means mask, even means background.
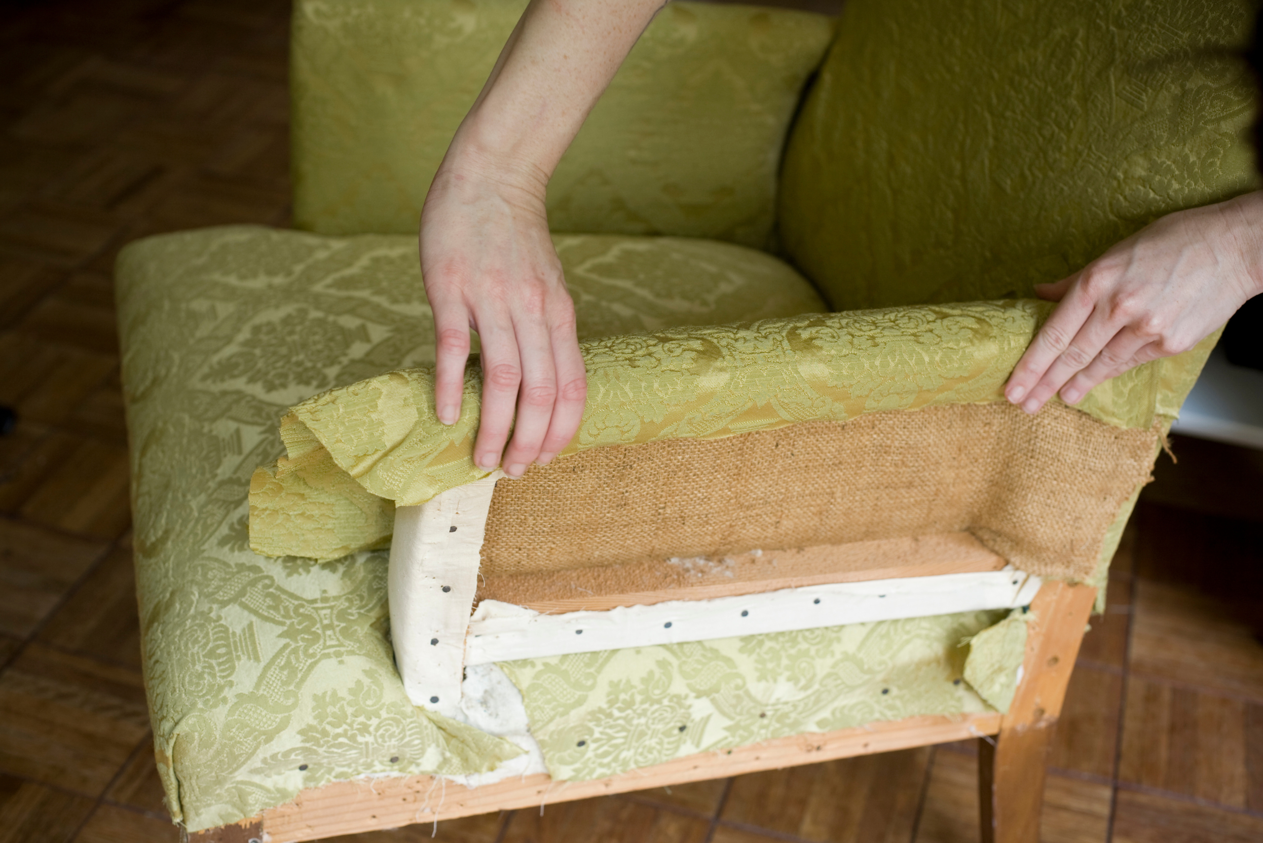
[[[1060,405],[961,404],[596,448],[496,486],[482,572],[519,575],[967,530],[1087,579],[1157,432]]]

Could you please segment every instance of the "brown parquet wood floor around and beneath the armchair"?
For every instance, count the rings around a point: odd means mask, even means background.
[[[140,680],[111,266],[150,232],[287,225],[287,15],[4,6],[0,843],[178,837]],[[1263,453],[1175,449],[1071,681],[1048,843],[1263,839]],[[978,839],[975,769],[946,745],[340,843],[956,843]]]

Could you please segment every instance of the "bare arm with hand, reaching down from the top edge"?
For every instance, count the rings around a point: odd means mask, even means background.
[[[434,312],[434,405],[461,411],[470,328],[482,353],[475,462],[510,476],[578,429],[586,372],[544,193],[663,0],[532,0],[431,184],[421,265]],[[513,439],[504,451],[510,428]]]

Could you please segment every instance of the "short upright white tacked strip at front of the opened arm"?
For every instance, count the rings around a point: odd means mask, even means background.
[[[500,471],[457,486],[421,506],[395,509],[390,541],[390,639],[404,690],[414,705],[456,717],[465,632]]]

